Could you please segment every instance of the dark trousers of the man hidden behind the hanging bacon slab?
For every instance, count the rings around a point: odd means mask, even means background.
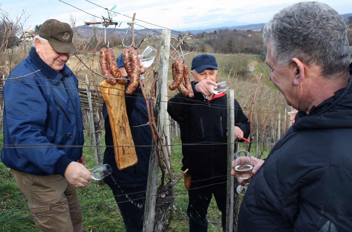
[[[147,186],[125,188],[109,185],[124,220],[126,232],[142,232]]]

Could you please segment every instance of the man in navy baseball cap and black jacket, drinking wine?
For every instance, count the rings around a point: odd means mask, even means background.
[[[225,92],[214,95],[212,91],[217,86],[217,72],[214,56],[194,57],[191,63],[194,97],[178,93],[168,101],[168,113],[180,125],[181,141],[185,144],[182,145],[182,170],[188,169],[184,183],[188,189],[189,232],[208,231],[206,216],[213,195],[226,231],[228,112]],[[242,141],[249,136],[248,118],[236,99],[231,101],[235,109],[235,141]]]

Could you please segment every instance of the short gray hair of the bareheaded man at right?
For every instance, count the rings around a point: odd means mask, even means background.
[[[344,19],[321,2],[299,2],[276,13],[263,28],[263,41],[279,66],[292,58],[322,67],[322,75],[348,70],[347,30]]]

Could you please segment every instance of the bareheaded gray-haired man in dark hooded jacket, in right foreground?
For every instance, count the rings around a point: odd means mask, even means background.
[[[265,162],[253,158],[238,231],[351,231],[352,73],[345,21],[326,4],[300,2],[274,15],[263,40],[269,79],[299,111]]]

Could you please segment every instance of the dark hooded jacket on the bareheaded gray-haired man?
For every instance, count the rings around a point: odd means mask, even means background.
[[[351,85],[297,114],[249,185],[239,232],[351,231]]]

